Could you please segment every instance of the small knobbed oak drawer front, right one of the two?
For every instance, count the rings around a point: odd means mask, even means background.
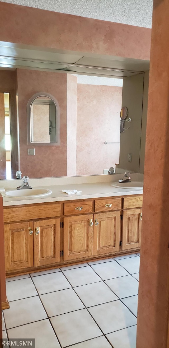
[[[105,198],[95,200],[95,212],[108,212],[121,209],[121,198]]]

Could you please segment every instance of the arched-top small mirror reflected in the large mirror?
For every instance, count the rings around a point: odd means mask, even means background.
[[[51,98],[34,98],[30,105],[29,120],[31,143],[57,143],[57,106]]]

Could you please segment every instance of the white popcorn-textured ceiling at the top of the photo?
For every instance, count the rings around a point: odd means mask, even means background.
[[[151,28],[153,0],[1,0],[43,10]]]

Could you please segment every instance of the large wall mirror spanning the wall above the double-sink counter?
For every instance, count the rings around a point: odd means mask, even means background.
[[[30,178],[143,173],[148,71],[112,78],[3,69],[0,80],[0,179],[18,169]],[[121,132],[124,106],[131,122]]]

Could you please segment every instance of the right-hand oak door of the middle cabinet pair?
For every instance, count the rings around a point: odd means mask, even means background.
[[[93,254],[120,250],[120,211],[94,214]]]

